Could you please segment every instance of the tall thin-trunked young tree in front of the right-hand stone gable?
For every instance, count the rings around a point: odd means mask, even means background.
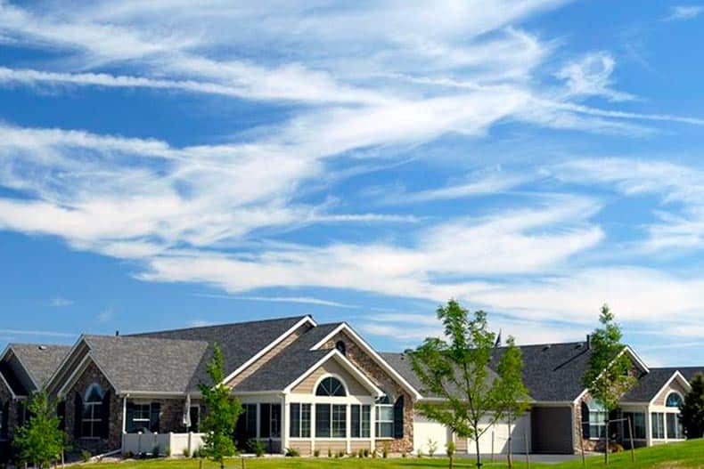
[[[621,344],[621,327],[609,305],[602,306],[599,322],[602,327],[594,329],[590,339],[591,356],[584,384],[592,399],[598,400],[606,413],[604,462],[609,464],[609,416],[618,408],[620,397],[633,387],[635,378],[630,373],[633,364],[625,352],[626,346]]]

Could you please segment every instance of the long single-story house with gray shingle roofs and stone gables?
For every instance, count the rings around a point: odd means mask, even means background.
[[[0,356],[0,435],[21,425],[30,392],[45,387],[75,448],[172,452],[200,441],[199,384],[218,344],[228,386],[244,408],[233,439],[258,440],[272,453],[302,455],[387,447],[392,452],[444,452],[447,441],[473,453],[470,441],[416,411],[438,396],[423,390],[403,353],[378,352],[347,323],[310,316],[190,327],[135,335],[78,338],[70,347],[10,344]],[[495,363],[503,352],[496,347]],[[530,411],[487,429],[480,451],[502,453],[509,433],[515,452],[573,453],[593,449],[605,433],[603,408],[582,384],[589,341],[521,346]],[[702,368],[649,368],[626,347],[638,382],[618,416],[646,446],[684,439],[677,406]],[[617,416],[614,416],[616,418]],[[627,444],[627,425],[610,429]],[[584,440],[581,440],[584,435]],[[580,441],[581,440],[581,441]],[[180,445],[180,446],[179,446]]]

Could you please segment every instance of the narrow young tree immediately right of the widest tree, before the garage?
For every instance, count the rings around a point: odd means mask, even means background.
[[[520,348],[516,346],[516,341],[512,336],[509,336],[506,341],[502,359],[498,365],[500,377],[496,384],[496,399],[498,400],[496,407],[503,411],[503,420],[508,426],[506,462],[511,469],[513,467],[511,425],[530,408],[528,389],[523,384],[523,352],[520,352]]]

